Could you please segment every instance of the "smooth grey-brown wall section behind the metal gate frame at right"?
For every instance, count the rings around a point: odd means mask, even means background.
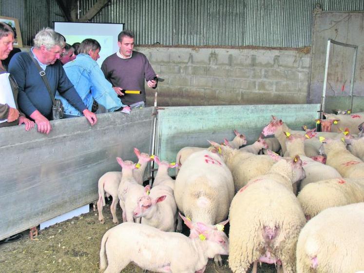
[[[327,40],[358,45],[354,95],[364,97],[364,12],[322,12],[315,14],[312,40],[310,103],[320,103],[325,76]],[[350,94],[354,49],[331,45],[326,96]],[[331,109],[326,109],[331,110]]]

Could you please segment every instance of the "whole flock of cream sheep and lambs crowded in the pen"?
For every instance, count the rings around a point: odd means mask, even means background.
[[[364,271],[363,121],[364,113],[327,115],[316,120],[326,132],[292,131],[272,116],[243,148],[246,137],[234,131],[232,141],[181,149],[176,163],[136,148],[136,164],[117,157],[122,172],[100,177],[97,208],[103,223],[111,195],[113,222],[119,201],[123,223],[102,238],[100,272],[134,262],[154,272],[203,273],[209,258],[221,266],[227,254],[234,273],[251,265],[256,273],[262,262],[284,273]],[[153,187],[143,187],[151,160],[158,172]]]

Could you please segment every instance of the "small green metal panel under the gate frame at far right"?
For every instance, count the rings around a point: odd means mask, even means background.
[[[340,109],[340,110],[349,110],[350,109],[350,97],[326,97],[325,102],[325,112],[332,113],[332,110]],[[354,96],[353,98],[353,109],[351,109],[352,113],[362,112],[364,111],[364,97]]]

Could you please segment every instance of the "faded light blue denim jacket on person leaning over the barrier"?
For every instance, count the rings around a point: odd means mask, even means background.
[[[94,99],[110,112],[125,106],[117,97],[111,83],[105,78],[97,62],[89,55],[79,54],[75,60],[67,62],[63,68],[67,77],[75,86],[78,95],[90,111]],[[64,114],[82,115],[58,92],[56,98],[62,101]]]

